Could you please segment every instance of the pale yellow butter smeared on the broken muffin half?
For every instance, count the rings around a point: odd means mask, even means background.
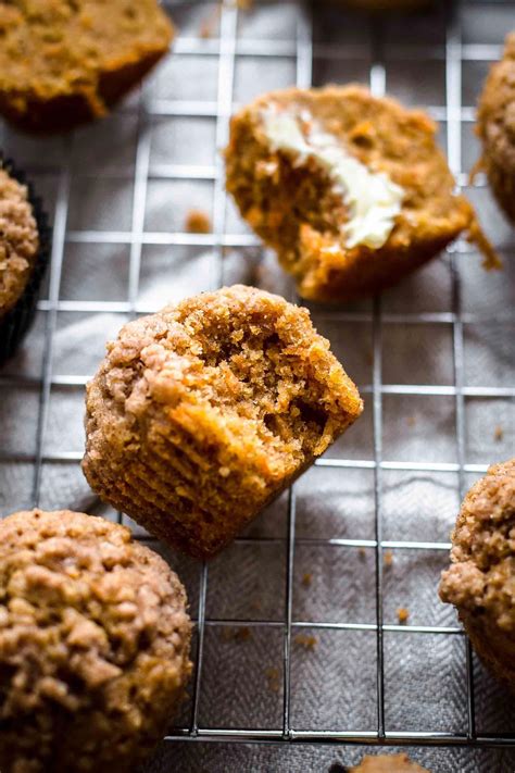
[[[349,210],[349,221],[342,228],[346,247],[382,247],[401,212],[403,188],[385,172],[370,172],[306,110],[297,113],[272,104],[261,112],[261,121],[274,151],[291,153],[298,166],[314,159],[327,172]]]

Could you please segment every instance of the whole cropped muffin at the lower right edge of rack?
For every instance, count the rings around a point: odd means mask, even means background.
[[[464,499],[452,533],[442,601],[453,603],[485,665],[515,691],[515,459]]]

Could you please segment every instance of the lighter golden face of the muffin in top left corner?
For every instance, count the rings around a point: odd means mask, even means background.
[[[167,48],[173,27],[156,0],[14,0],[0,4],[0,90],[50,99],[97,99],[102,72],[129,67]]]

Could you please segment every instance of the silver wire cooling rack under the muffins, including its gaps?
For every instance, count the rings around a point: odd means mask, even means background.
[[[515,26],[512,3],[442,3],[387,20],[297,0],[169,11],[181,28],[174,54],[111,119],[52,140],[2,127],[5,151],[26,164],[53,215],[36,325],[0,372],[3,514],[95,510],[78,466],[84,385],[125,321],[235,278],[294,299],[227,201],[215,150],[231,112],[256,93],[361,80],[425,107],[459,185],[513,258],[486,180],[468,187],[475,99]],[[185,212],[199,205],[211,211],[211,234],[185,233]],[[381,298],[313,307],[367,411],[221,558],[199,568],[166,553],[197,622],[189,702],[166,739],[174,749],[515,747],[513,699],[437,599],[460,498],[515,450],[513,267],[492,276],[479,262],[461,241]],[[479,770],[472,759],[467,770]],[[465,764],[439,768],[457,769]]]

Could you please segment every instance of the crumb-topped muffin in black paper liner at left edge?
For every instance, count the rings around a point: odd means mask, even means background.
[[[46,215],[23,176],[0,157],[0,363],[27,331],[49,258]]]

